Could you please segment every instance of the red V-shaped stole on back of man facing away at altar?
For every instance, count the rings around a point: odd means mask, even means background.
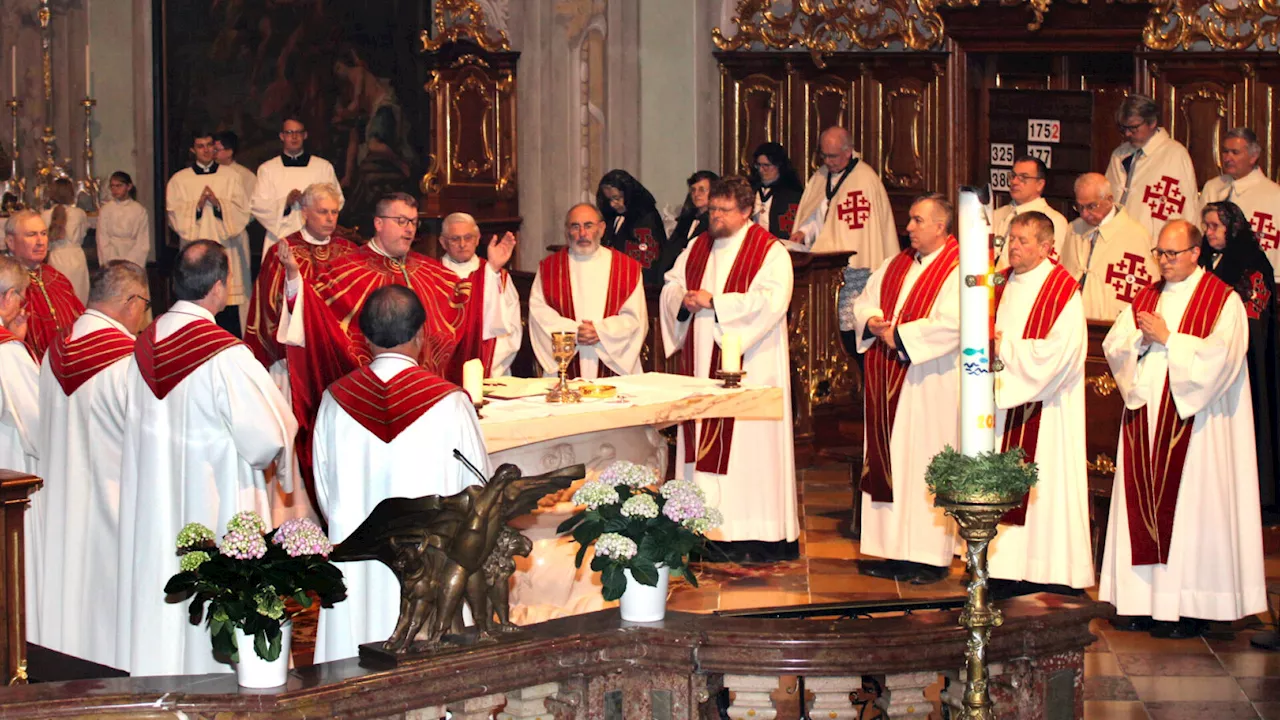
[[[366,430],[389,443],[442,397],[461,389],[422,368],[407,368],[383,382],[365,365],[329,386],[329,395]]]

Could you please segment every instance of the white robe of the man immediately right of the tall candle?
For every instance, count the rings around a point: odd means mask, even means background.
[[[1084,355],[1088,333],[1079,293],[1062,307],[1042,340],[1023,331],[1053,263],[1014,274],[996,310],[1004,337],[997,356],[996,437],[1005,433],[1007,410],[1041,406],[1036,464],[1039,480],[1027,505],[1027,524],[1000,525],[991,542],[992,578],[1087,588],[1093,584],[1089,537],[1089,479],[1084,466]],[[996,443],[1001,447],[1000,442]]]

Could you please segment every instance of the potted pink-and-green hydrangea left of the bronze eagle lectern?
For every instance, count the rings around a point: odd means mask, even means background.
[[[238,512],[227,523],[221,543],[214,532],[191,523],[178,533],[180,571],[165,583],[166,594],[192,597],[191,623],[205,618],[214,652],[236,662],[239,684],[283,685],[289,670],[292,616],[284,598],[311,607],[332,607],[347,587],[342,570],[328,560],[333,544],[315,523],[285,520],[268,532],[256,512]],[[252,646],[252,652],[248,651]]]

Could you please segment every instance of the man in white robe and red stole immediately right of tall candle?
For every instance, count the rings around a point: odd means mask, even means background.
[[[1079,287],[1048,259],[1053,223],[1019,213],[1009,228],[1009,269],[996,286],[996,437],[1023,448],[1039,482],[1001,519],[991,577],[1041,585],[1093,584],[1089,480],[1084,466],[1084,352]]]

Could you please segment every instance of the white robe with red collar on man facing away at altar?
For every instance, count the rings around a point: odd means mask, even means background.
[[[348,377],[330,387],[316,420],[316,489],[334,544],[388,497],[447,497],[479,484],[453,457],[454,450],[485,478],[493,475],[480,421],[461,388],[394,352],[379,355],[352,375],[362,375],[361,382]],[[357,420],[347,410],[352,401],[376,410]],[[347,600],[320,610],[316,662],[356,657],[361,643],[389,638],[399,618],[401,587],[389,568],[375,560],[340,568]]]

